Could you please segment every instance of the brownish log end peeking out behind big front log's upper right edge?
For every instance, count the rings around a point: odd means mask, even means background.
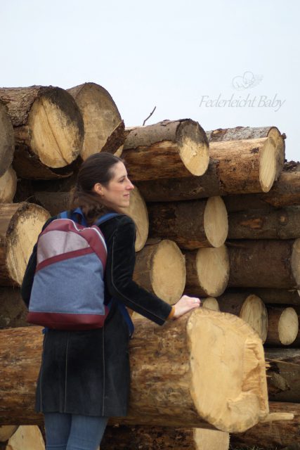
[[[249,295],[240,310],[240,318],[249,323],[262,342],[266,341],[268,334],[268,311],[263,301],[256,295]]]

